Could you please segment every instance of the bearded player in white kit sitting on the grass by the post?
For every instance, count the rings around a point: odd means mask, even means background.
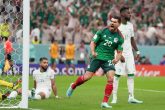
[[[49,98],[53,90],[55,98],[57,95],[57,87],[54,80],[54,71],[48,67],[48,59],[45,57],[40,58],[39,69],[33,72],[34,89],[29,90],[29,98],[45,99]],[[22,93],[22,89],[11,92],[8,98],[15,98],[18,94]]]

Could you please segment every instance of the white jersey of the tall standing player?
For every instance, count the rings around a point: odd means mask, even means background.
[[[127,22],[127,24],[121,23],[121,25],[119,26],[119,30],[124,37],[123,55],[130,55],[132,54],[131,37],[134,37],[133,24],[130,22]]]

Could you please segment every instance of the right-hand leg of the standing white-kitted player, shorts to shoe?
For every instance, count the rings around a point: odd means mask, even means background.
[[[128,86],[128,102],[129,103],[143,103],[143,101],[139,101],[134,98],[134,75],[136,73],[135,70],[135,62],[133,55],[130,56],[127,61],[126,61],[126,68],[127,68],[127,73],[128,73],[128,78],[127,78],[127,86]]]

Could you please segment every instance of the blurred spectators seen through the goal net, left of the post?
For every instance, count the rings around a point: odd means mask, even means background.
[[[2,38],[22,41],[22,0],[0,0],[0,43]]]

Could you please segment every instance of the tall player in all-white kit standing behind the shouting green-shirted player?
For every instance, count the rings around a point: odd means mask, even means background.
[[[122,61],[119,61],[116,65],[116,74],[114,77],[114,84],[113,84],[113,99],[111,103],[117,103],[117,90],[118,90],[118,83],[119,78],[123,74],[127,74],[127,85],[128,85],[128,93],[129,103],[143,103],[143,101],[139,101],[134,98],[134,75],[135,75],[135,62],[134,56],[132,52],[132,48],[136,51],[136,58],[140,57],[140,52],[136,46],[134,40],[134,29],[133,24],[130,22],[131,14],[129,7],[122,7],[120,9],[121,14],[121,25],[119,26],[119,30],[121,31],[124,37],[124,44],[123,44],[123,57]]]

